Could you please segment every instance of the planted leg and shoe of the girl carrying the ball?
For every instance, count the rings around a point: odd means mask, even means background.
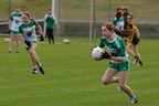
[[[119,87],[130,97],[129,103],[135,104],[138,100],[132,91],[130,89],[130,87],[126,85],[127,77],[128,77],[128,71],[119,72]]]

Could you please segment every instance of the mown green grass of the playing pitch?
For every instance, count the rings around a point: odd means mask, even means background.
[[[45,75],[31,74],[32,64],[22,43],[19,54],[8,53],[8,43],[0,40],[0,106],[131,106],[116,84],[100,83],[109,61],[94,61],[89,50],[95,44],[87,44],[88,40],[39,43],[36,52]],[[56,42],[62,40],[56,38]],[[127,84],[138,96],[136,106],[158,106],[158,42],[141,40],[139,52],[145,65],[131,65]]]

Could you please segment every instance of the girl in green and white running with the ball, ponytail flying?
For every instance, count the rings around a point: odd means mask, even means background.
[[[110,64],[105,72],[102,82],[105,85],[112,83],[118,83],[121,91],[124,91],[129,97],[129,103],[137,103],[137,97],[132,93],[129,86],[126,85],[128,77],[128,71],[130,70],[130,62],[126,52],[124,41],[113,33],[115,32],[119,36],[127,38],[134,33],[134,30],[118,30],[112,23],[104,23],[102,26],[103,38],[100,39],[99,47],[106,46],[112,55],[107,52],[103,53],[102,59],[110,60]],[[119,77],[114,77],[119,73]]]

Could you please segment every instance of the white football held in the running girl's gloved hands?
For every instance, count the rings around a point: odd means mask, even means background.
[[[94,60],[99,61],[102,53],[104,53],[104,50],[102,47],[97,46],[92,50],[91,55]]]

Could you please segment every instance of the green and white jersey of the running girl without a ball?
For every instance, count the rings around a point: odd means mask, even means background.
[[[19,35],[22,35],[24,39],[26,39],[30,42],[34,42],[34,41],[38,42],[38,36],[35,33],[36,25],[40,25],[40,24],[31,20],[29,21],[29,23],[22,22],[19,25]]]

